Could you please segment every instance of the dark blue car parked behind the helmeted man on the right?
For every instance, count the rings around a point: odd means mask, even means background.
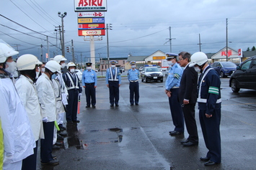
[[[221,77],[231,75],[237,69],[237,65],[234,62],[213,62],[211,67],[219,72]]]

